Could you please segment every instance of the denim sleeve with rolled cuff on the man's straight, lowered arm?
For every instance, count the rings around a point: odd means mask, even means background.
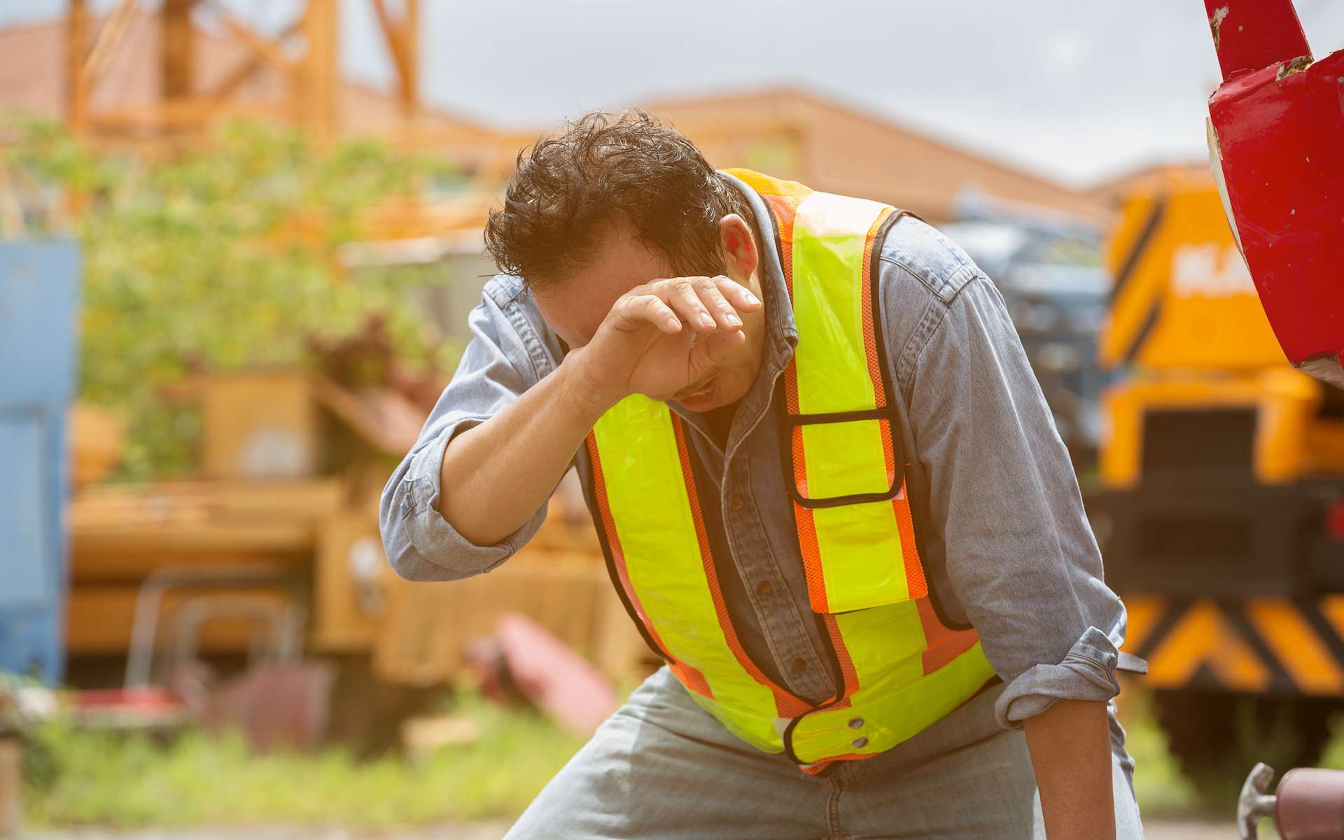
[[[948,578],[1007,683],[999,722],[1109,700],[1125,607],[1003,298],[977,273],[939,314],[918,349],[911,426]]]

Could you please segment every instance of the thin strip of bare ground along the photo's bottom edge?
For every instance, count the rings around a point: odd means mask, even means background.
[[[360,833],[340,828],[331,829],[238,829],[219,831],[144,831],[114,832],[105,829],[78,829],[60,832],[30,832],[32,840],[237,840],[241,836],[255,840],[499,840],[508,823],[473,823],[469,825],[441,825],[391,833]],[[1235,840],[1236,828],[1226,823],[1148,820],[1144,825],[1148,840]]]

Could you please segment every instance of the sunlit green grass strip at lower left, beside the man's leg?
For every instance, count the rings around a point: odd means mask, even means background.
[[[30,825],[118,828],[328,824],[386,828],[517,814],[582,739],[526,711],[476,698],[480,738],[419,761],[356,761],[347,750],[253,753],[239,735],[172,741],[51,722],[26,749]]]

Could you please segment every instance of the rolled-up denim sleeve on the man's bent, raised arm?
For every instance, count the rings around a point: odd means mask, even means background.
[[[538,337],[527,332],[531,327],[515,301],[501,304],[488,286],[469,325],[472,340],[453,380],[383,488],[383,548],[392,569],[409,581],[456,581],[489,571],[526,544],[546,519],[543,505],[501,542],[477,546],[438,512],[439,470],[453,435],[489,419],[540,378]],[[453,478],[469,482],[473,476]]]

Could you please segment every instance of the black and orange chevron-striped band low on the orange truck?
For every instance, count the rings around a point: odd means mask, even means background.
[[[1344,696],[1344,595],[1125,598],[1125,649],[1156,688]]]

